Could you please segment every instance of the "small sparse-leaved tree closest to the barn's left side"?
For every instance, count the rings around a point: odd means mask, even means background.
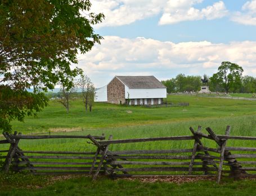
[[[95,86],[88,76],[84,74],[81,74],[80,76],[80,79],[77,81],[77,87],[82,91],[81,94],[86,111],[88,110],[88,105],[89,111],[92,111],[92,105],[95,98]]]

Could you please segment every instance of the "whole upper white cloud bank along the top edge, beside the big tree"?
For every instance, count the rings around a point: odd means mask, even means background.
[[[144,18],[162,15],[160,25],[174,24],[181,21],[213,20],[227,15],[222,1],[198,10],[193,6],[204,0],[92,0],[91,12],[103,12],[104,22],[96,25],[121,26]]]

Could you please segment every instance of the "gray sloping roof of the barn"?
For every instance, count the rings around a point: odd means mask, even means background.
[[[116,76],[129,88],[166,88],[154,76]]]

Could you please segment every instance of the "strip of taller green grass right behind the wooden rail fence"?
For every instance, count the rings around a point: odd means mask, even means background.
[[[211,127],[215,133],[224,134],[226,126],[231,125],[232,136],[256,136],[256,115],[235,116],[226,118],[212,118],[201,120],[188,120],[186,122],[170,122],[155,125],[137,125],[120,128],[106,128],[95,130],[84,130],[79,132],[61,133],[72,135],[98,135],[105,133],[106,139],[113,135],[113,139],[147,138],[147,137],[168,137],[168,136],[191,136],[189,127],[197,129],[197,126]],[[58,134],[58,133],[54,133]],[[63,151],[95,151],[95,146],[87,143],[88,139],[37,139],[21,140],[19,146],[23,150],[63,150]],[[110,150],[153,150],[170,148],[191,148],[194,141],[157,141],[143,143],[111,144]],[[216,147],[216,144],[209,139],[203,139],[205,146]],[[228,146],[255,146],[254,141],[229,140]]]

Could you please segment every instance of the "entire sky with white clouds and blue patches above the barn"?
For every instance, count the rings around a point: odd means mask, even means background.
[[[217,72],[223,61],[256,77],[256,0],[91,0],[105,21],[101,45],[79,55],[78,67],[95,83],[116,75],[159,80]]]

